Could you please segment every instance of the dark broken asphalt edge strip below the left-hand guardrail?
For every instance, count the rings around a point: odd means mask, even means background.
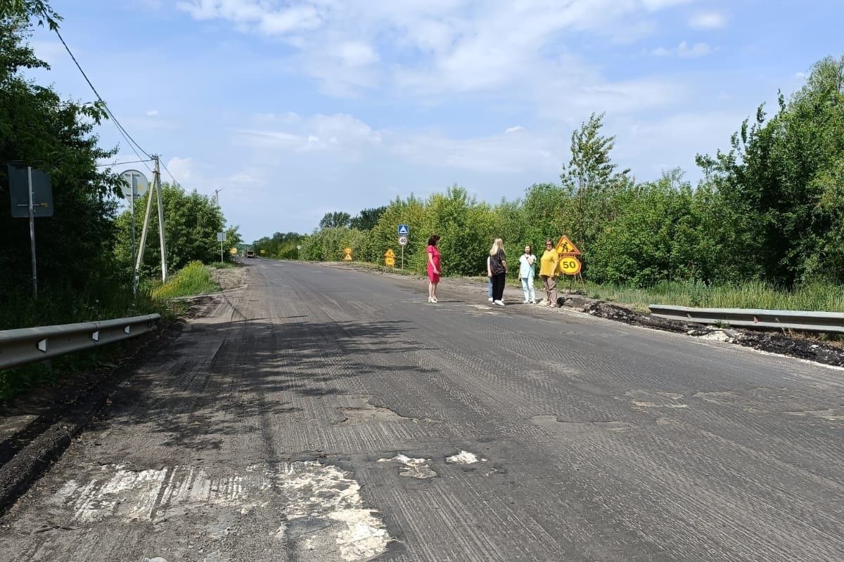
[[[176,321],[157,330],[153,337],[149,337],[135,349],[135,356],[140,355],[138,351],[145,351],[155,342],[165,342],[159,349],[171,345],[175,340],[171,336],[178,335],[183,325],[183,322]],[[14,458],[0,467],[0,515],[8,511],[14,502],[46,473],[52,463],[68,448],[73,437],[82,431],[106,404],[117,386],[132,375],[135,367],[136,361],[129,361],[127,365],[117,367],[86,393],[76,397],[72,404],[68,404],[68,409],[47,426],[45,431],[35,436],[14,455]]]

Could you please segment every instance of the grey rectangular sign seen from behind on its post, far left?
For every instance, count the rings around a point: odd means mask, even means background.
[[[38,267],[35,260],[35,217],[52,217],[50,176],[21,162],[8,164],[9,195],[12,217],[30,219],[30,254],[32,258],[32,295],[38,298]]]

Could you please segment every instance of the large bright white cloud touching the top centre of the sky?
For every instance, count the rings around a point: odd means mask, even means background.
[[[502,93],[529,99],[547,76],[587,68],[565,43],[588,33],[629,41],[657,30],[654,13],[695,0],[181,0],[199,20],[223,19],[246,32],[279,35],[324,93],[353,96],[381,84],[436,102],[450,94]],[[284,21],[284,24],[271,22]],[[378,42],[373,42],[374,40]],[[379,51],[379,45],[389,45]],[[579,72],[583,78],[586,72]],[[592,73],[587,83],[612,86]],[[555,97],[565,95],[565,90]]]

